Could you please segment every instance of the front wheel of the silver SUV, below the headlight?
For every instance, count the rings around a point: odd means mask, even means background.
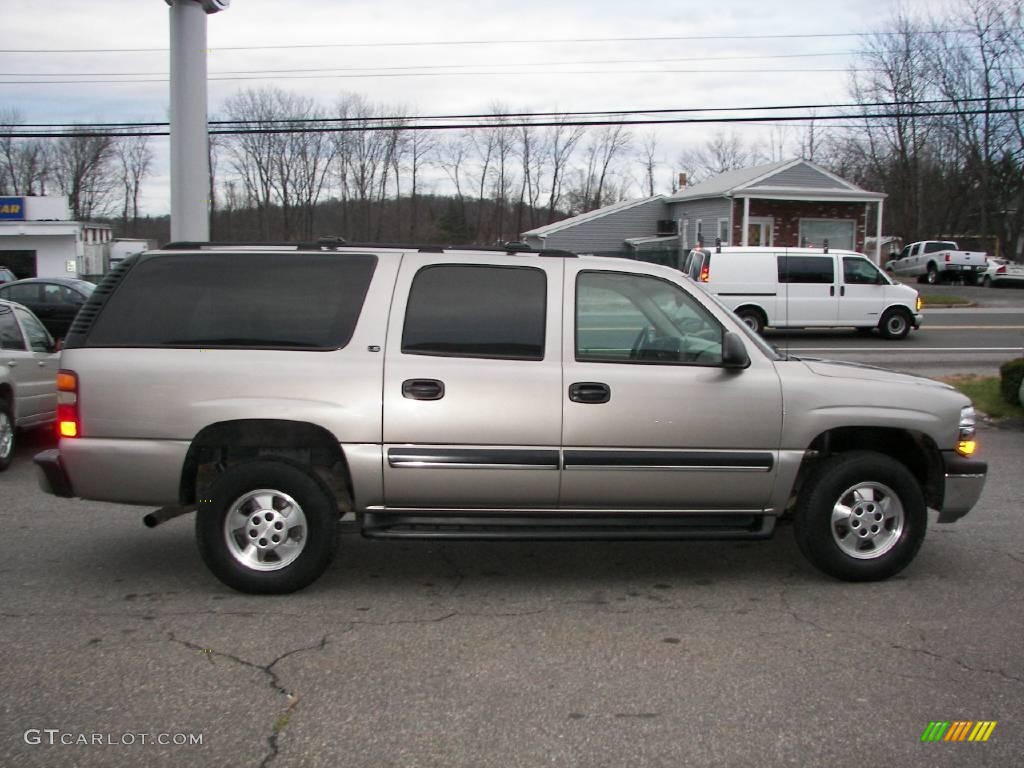
[[[858,487],[859,498],[853,494]],[[834,510],[840,507],[850,510],[849,522],[842,518],[834,522]],[[887,513],[894,517],[885,518]],[[928,511],[918,480],[899,462],[871,451],[823,460],[801,490],[794,519],[804,557],[847,582],[873,582],[901,571],[921,549],[927,527]],[[874,537],[884,544],[876,548]],[[860,548],[859,556],[850,554],[855,547]]]

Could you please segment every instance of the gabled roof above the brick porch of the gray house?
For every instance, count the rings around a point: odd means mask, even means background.
[[[802,171],[807,178],[814,178],[819,183],[814,185],[795,184],[793,176],[784,176],[787,171]],[[773,183],[774,180],[778,183]],[[772,197],[794,199],[842,199],[842,200],[884,200],[883,193],[872,193],[826,171],[821,166],[808,160],[782,160],[777,163],[766,163],[751,168],[739,168],[726,171],[710,179],[688,186],[668,198],[667,203],[701,198]]]

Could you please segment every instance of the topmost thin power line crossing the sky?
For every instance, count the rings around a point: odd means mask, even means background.
[[[966,29],[921,30],[919,34],[947,35],[969,33]],[[399,48],[455,45],[562,45],[565,43],[646,43],[694,42],[717,40],[810,40],[827,38],[857,38],[872,36],[899,36],[901,32],[821,32],[788,35],[652,35],[644,37],[581,37],[547,39],[497,39],[497,40],[403,40],[344,43],[288,43],[280,45],[224,45],[210,50],[297,50],[304,48]],[[0,48],[0,53],[158,53],[168,48]]]

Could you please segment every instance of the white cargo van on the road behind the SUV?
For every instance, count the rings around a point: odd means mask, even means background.
[[[757,333],[771,328],[856,328],[902,339],[921,326],[921,298],[866,257],[820,248],[694,249],[681,270]]]

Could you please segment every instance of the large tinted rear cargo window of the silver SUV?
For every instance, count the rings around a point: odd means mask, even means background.
[[[86,346],[345,346],[377,257],[201,253],[138,263],[99,311]]]

